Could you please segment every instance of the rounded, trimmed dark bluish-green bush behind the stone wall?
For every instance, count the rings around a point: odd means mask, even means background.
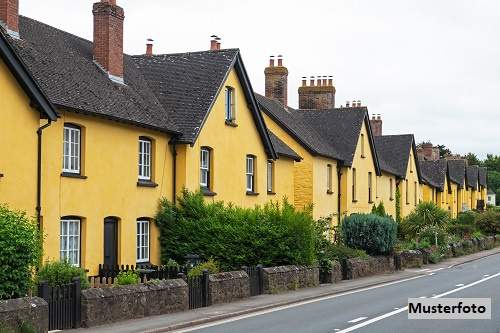
[[[368,254],[387,254],[397,240],[397,224],[391,218],[374,214],[352,214],[342,222],[345,245]]]

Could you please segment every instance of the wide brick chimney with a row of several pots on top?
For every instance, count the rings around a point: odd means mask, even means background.
[[[333,109],[335,108],[335,92],[332,76],[318,76],[316,85],[314,84],[314,76],[311,76],[309,86],[302,84],[299,87],[299,108]]]

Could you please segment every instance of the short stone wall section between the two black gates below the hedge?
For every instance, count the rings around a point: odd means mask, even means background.
[[[208,281],[212,305],[250,297],[250,279],[244,271],[210,274]]]

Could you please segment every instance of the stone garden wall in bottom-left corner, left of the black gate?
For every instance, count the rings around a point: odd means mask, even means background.
[[[0,301],[0,328],[18,332],[28,325],[34,332],[45,333],[49,329],[49,305],[39,297],[15,298]]]

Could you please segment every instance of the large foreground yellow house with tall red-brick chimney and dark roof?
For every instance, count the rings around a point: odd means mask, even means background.
[[[0,103],[12,122],[0,149],[16,156],[21,147],[23,156],[0,161],[0,202],[30,214],[39,207],[45,259],[90,275],[100,264],[159,264],[158,201],[183,187],[242,206],[294,200],[300,156],[269,135],[238,50],[148,47],[132,57],[123,54],[123,9],[97,2],[93,14],[94,41],[20,16],[2,37],[12,56],[2,63]]]

